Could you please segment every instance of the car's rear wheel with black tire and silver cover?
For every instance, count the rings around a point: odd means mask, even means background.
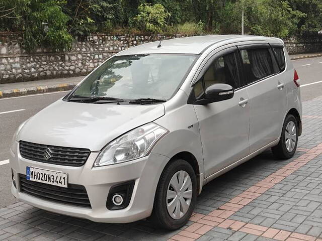
[[[291,126],[288,126],[288,125],[291,125]],[[291,127],[294,127],[294,129]],[[294,134],[287,135],[287,133],[290,131],[291,131],[291,134],[293,133]],[[287,139],[285,138],[285,136],[292,137],[292,138],[289,138],[288,143],[286,142]],[[283,124],[280,141],[275,147],[272,147],[273,154],[279,159],[289,159],[293,157],[296,151],[297,139],[298,139],[298,126],[297,126],[296,118],[294,117],[294,115],[288,114]]]

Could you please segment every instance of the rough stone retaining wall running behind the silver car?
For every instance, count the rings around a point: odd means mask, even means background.
[[[186,36],[166,36],[167,39],[178,37]],[[86,75],[117,52],[158,39],[152,35],[98,34],[85,39],[76,38],[69,52],[57,53],[38,48],[33,53],[26,53],[20,47],[22,38],[18,34],[0,34],[0,84]],[[321,52],[322,34],[305,39],[292,37],[286,39],[285,44],[290,54]]]

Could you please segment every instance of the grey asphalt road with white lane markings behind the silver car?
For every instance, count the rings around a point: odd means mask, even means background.
[[[295,60],[293,64],[301,79],[302,101],[322,95],[322,57]],[[11,170],[7,164],[15,130],[23,121],[66,93],[0,99],[0,208],[16,202],[10,190]]]

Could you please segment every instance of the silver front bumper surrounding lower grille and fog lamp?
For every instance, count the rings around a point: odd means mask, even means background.
[[[82,167],[69,167],[31,161],[20,156],[18,143],[11,151],[12,166],[17,188],[12,193],[21,201],[35,207],[69,216],[90,219],[96,222],[126,223],[150,216],[159,176],[169,158],[151,153],[134,161],[93,168],[98,152],[92,152]],[[37,167],[67,173],[69,184],[83,185],[88,193],[92,208],[61,204],[28,195],[20,191],[19,174],[26,175],[26,167]],[[134,180],[129,205],[121,210],[109,210],[106,200],[112,186]]]

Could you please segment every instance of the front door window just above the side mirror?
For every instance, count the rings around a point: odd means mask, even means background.
[[[206,88],[218,83],[229,84],[233,88],[238,88],[240,86],[235,63],[235,53],[218,57],[212,61],[203,75],[202,80],[194,85],[193,91],[195,97],[202,97]]]

